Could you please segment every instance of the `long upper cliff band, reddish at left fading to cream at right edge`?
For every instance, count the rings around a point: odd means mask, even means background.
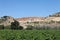
[[[47,17],[47,18],[43,18],[43,17],[37,17],[37,18],[17,18],[17,21],[21,22],[21,23],[25,23],[25,22],[48,22],[48,21],[60,21],[60,17]]]

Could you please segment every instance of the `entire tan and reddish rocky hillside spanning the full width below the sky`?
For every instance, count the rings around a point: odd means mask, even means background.
[[[8,26],[11,22],[17,20],[21,26],[26,27],[26,25],[33,26],[60,26],[60,12],[48,17],[24,17],[24,18],[13,18],[11,16],[3,16],[0,18],[0,25]],[[30,22],[30,23],[29,23]]]

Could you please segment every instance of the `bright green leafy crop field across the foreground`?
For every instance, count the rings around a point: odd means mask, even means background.
[[[60,40],[60,30],[0,30],[0,40]]]

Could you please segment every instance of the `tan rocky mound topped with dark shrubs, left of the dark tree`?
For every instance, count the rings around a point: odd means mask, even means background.
[[[14,22],[14,18],[11,16],[3,16],[0,18],[0,25],[9,26],[11,22]]]

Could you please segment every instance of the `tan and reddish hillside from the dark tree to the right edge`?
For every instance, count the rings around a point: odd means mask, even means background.
[[[25,18],[17,18],[20,25],[26,27],[26,25],[32,25],[34,27],[59,27],[60,25],[60,12],[55,13],[53,15],[49,15],[48,17],[25,17]],[[27,28],[27,27],[26,27]]]

